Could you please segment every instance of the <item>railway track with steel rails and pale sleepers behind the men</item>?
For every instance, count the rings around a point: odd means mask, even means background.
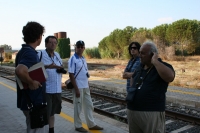
[[[0,76],[15,82],[14,70],[0,67]],[[127,123],[125,94],[90,86],[94,111]],[[64,89],[62,99],[73,103],[72,91]],[[166,106],[166,132],[167,133],[199,133],[200,110],[190,107]]]

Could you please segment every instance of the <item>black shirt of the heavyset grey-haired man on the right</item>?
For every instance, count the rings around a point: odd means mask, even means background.
[[[174,71],[170,64],[162,63]],[[138,83],[140,77],[145,78],[141,88],[138,89],[136,83]],[[132,87],[137,89],[133,102],[127,102],[127,108],[136,111],[165,111],[165,93],[169,83],[159,76],[156,68],[152,67],[145,70],[142,66],[139,66],[133,75],[133,79]]]

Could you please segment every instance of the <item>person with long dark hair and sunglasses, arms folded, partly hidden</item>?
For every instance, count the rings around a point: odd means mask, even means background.
[[[135,71],[136,67],[140,64],[139,50],[140,44],[138,42],[132,42],[131,44],[129,44],[128,52],[130,54],[131,59],[129,60],[122,76],[124,79],[127,79],[127,93],[130,91],[130,79],[133,75],[133,72]]]

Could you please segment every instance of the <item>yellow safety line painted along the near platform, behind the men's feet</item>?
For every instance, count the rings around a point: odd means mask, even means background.
[[[13,88],[12,86],[6,85],[6,84],[4,84],[2,82],[0,82],[0,84],[5,86],[5,87],[7,87],[7,88],[9,88],[9,89],[11,89],[11,90],[13,90],[13,91],[16,91],[16,88]],[[74,119],[71,116],[69,116],[69,115],[67,115],[67,114],[65,114],[63,112],[60,113],[60,116],[62,118],[64,118],[65,120],[67,120],[67,121],[69,121],[71,123],[74,123]],[[89,130],[85,123],[82,123],[82,125],[83,125],[83,128],[87,129],[91,133],[102,133],[102,132],[100,132],[98,130]]]

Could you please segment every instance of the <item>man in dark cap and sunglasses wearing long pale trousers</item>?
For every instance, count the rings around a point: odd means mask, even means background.
[[[81,110],[83,106],[85,119],[89,130],[103,130],[94,122],[93,118],[93,103],[89,89],[89,73],[87,62],[83,57],[85,50],[85,43],[83,41],[77,41],[75,45],[75,54],[71,56],[68,61],[68,72],[70,80],[74,86],[73,88],[73,104],[74,104],[74,126],[75,130],[79,132],[87,132],[82,127],[81,122]]]

